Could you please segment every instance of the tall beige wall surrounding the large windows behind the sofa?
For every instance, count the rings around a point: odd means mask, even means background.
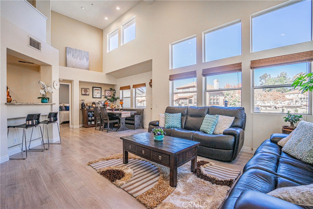
[[[242,106],[247,113],[244,147],[249,151],[256,149],[271,133],[281,132],[283,115],[252,113],[252,92],[250,60],[286,55],[312,50],[313,42],[294,44],[271,50],[250,53],[250,15],[276,6],[285,1],[155,1],[148,5],[144,1],[117,19],[104,29],[106,35],[119,28],[121,24],[136,15],[136,39],[120,45],[106,53],[106,39],[103,41],[104,72],[115,71],[145,60],[152,59],[152,119],[158,119],[158,113],[170,105],[170,82],[168,76],[175,73],[197,71],[198,106],[205,105],[203,93],[204,78],[202,69],[242,62]],[[203,31],[241,19],[242,55],[211,62],[202,61]],[[170,43],[196,35],[197,64],[169,70]],[[125,84],[127,85],[127,84]],[[164,92],[161,93],[160,92]],[[160,102],[162,101],[162,102]],[[156,107],[157,106],[157,107]],[[312,122],[312,116],[305,116]]]

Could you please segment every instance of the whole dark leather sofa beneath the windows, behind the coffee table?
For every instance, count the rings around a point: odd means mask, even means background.
[[[244,107],[167,107],[167,113],[182,113],[182,128],[164,128],[167,136],[200,142],[198,155],[212,159],[233,161],[244,144],[246,114]],[[235,117],[231,128],[223,134],[208,134],[200,131],[206,114]],[[149,123],[148,132],[159,127],[159,121]]]

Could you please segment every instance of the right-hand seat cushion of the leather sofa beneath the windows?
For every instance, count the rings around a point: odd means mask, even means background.
[[[216,149],[233,149],[235,137],[224,134],[208,134],[203,131],[196,131],[192,135],[192,141],[200,142],[201,146]]]

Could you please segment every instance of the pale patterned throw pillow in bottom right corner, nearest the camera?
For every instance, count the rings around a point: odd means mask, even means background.
[[[300,206],[313,206],[313,184],[304,186],[289,186],[275,189],[270,196],[291,202]]]

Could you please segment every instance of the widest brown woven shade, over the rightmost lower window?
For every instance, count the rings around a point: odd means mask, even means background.
[[[291,55],[283,55],[260,60],[252,60],[250,63],[250,67],[253,70],[265,67],[275,67],[281,65],[311,62],[312,60],[313,60],[313,51],[306,51]]]

